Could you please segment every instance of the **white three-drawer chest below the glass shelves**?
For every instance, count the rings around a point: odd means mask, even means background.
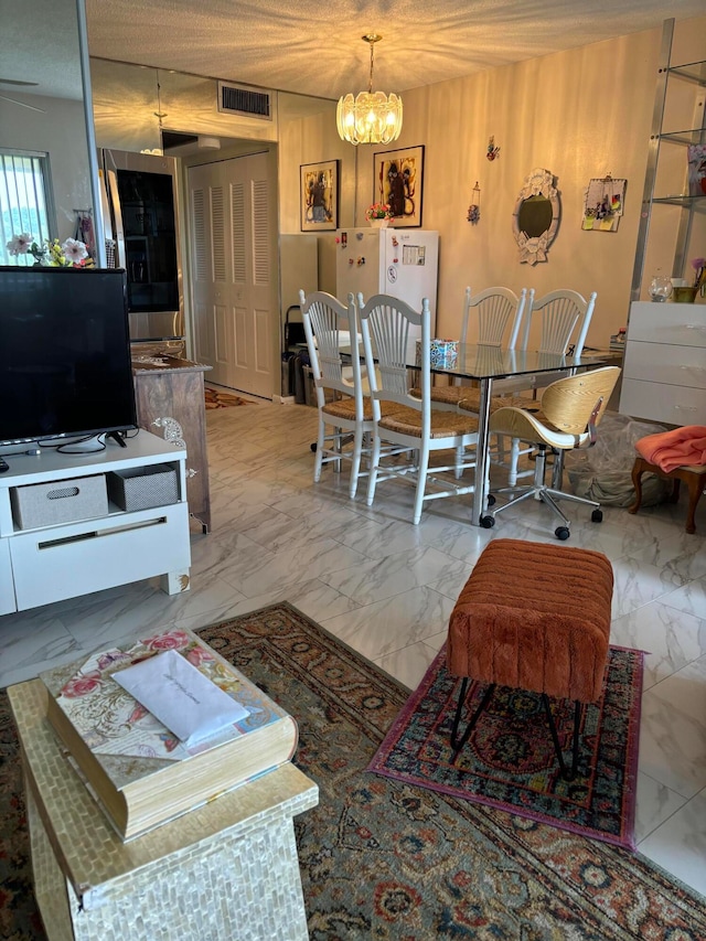
[[[706,303],[633,301],[620,411],[706,425]]]

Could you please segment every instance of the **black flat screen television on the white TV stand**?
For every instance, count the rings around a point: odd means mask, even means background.
[[[0,455],[136,427],[125,271],[0,266]]]

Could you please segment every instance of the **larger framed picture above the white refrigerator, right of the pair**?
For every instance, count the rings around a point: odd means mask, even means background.
[[[421,225],[424,146],[386,150],[373,154],[374,203],[387,203],[391,225]]]

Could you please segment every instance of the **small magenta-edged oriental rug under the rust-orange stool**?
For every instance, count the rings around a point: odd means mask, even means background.
[[[498,686],[453,760],[451,728],[461,680],[441,650],[395,720],[368,770],[415,787],[634,848],[642,652],[611,648],[603,695],[581,716],[575,779],[559,773],[542,696]],[[466,720],[488,687],[470,686]],[[574,704],[553,702],[570,767]]]

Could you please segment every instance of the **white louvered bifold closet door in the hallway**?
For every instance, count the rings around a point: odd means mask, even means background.
[[[266,154],[189,170],[196,359],[206,378],[269,398],[274,391],[270,232]]]

